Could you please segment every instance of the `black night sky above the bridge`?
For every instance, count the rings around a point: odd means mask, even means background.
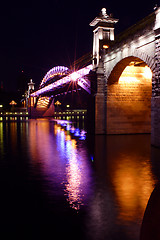
[[[14,1],[0,8],[0,81],[15,89],[23,70],[36,84],[52,67],[69,66],[92,50],[89,23],[105,7],[121,32],[153,11],[156,1]]]

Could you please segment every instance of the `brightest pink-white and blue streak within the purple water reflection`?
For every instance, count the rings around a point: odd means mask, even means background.
[[[69,126],[67,121],[58,120],[57,123],[61,125],[64,123],[67,124],[66,129]],[[85,132],[82,131],[82,133]],[[78,211],[84,204],[85,200],[84,194],[86,191],[87,179],[84,171],[86,171],[87,166],[81,157],[81,152],[79,153],[77,150],[76,140],[71,138],[68,131],[65,131],[62,127],[55,125],[55,134],[57,135],[59,151],[68,159],[65,169],[66,180],[63,181],[65,196],[70,204],[70,207]],[[50,170],[50,168],[48,169]]]

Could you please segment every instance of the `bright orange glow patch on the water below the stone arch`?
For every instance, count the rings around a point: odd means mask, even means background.
[[[133,221],[133,219],[136,219],[137,209],[141,213],[144,212],[147,200],[152,192],[152,172],[150,165],[143,162],[145,157],[142,157],[142,163],[139,164],[133,156],[130,156],[129,159],[124,156],[114,170],[113,184],[121,209],[120,219]],[[140,175],[139,172],[141,172]],[[142,195],[137,193],[137,186],[141,186]]]

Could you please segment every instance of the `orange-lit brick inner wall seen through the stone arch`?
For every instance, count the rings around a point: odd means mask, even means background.
[[[145,69],[142,66],[127,66],[119,81],[108,87],[107,107],[112,109],[112,113],[114,109],[115,119],[126,123],[125,127],[121,127],[108,118],[108,126],[112,121],[114,129],[110,131],[111,127],[108,127],[109,133],[150,133],[152,80],[144,77]]]

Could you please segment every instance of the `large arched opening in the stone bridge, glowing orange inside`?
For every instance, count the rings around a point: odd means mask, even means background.
[[[129,57],[113,69],[107,85],[107,133],[151,133],[152,71]]]

